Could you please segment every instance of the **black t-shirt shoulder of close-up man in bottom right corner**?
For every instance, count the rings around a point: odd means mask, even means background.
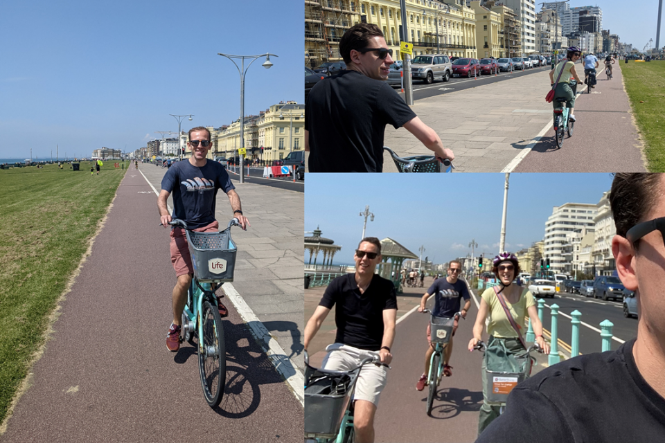
[[[526,379],[476,443],[664,441],[665,399],[637,370],[634,344],[578,356]]]

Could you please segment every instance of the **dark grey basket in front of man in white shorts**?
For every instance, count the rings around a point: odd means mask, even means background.
[[[335,437],[351,401],[352,388],[353,377],[348,374],[314,372],[305,388],[305,435]]]

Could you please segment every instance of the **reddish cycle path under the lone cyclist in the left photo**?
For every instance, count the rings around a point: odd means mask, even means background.
[[[154,192],[128,170],[2,442],[301,440],[301,404],[230,302],[219,408],[203,397],[195,348],[166,349],[175,273],[158,224]]]

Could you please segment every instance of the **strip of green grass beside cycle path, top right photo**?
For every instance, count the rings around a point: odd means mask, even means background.
[[[665,60],[621,62],[621,72],[644,138],[647,168],[665,172]]]

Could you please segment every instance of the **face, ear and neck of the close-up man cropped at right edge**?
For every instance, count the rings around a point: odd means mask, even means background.
[[[665,176],[659,183],[657,204],[644,221],[665,217]],[[665,339],[665,245],[659,230],[639,240],[639,250],[632,259],[637,278],[639,316],[652,332]]]

